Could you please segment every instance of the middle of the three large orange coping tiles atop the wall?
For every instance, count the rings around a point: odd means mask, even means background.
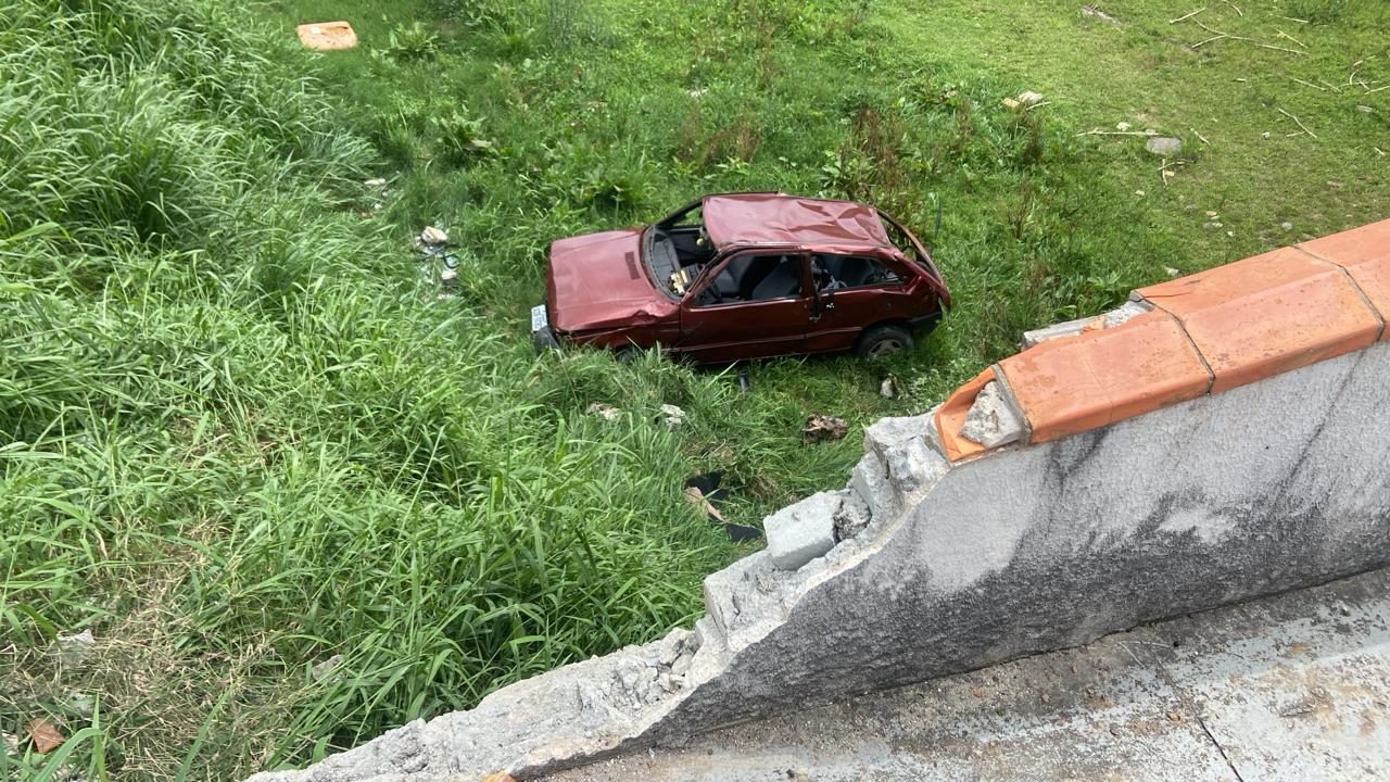
[[[1137,292],[1182,321],[1212,394],[1366,348],[1382,328],[1340,267],[1294,248]]]

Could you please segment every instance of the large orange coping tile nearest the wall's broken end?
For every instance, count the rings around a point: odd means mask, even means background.
[[[1048,340],[1004,359],[999,369],[1029,420],[1031,442],[1195,399],[1212,383],[1182,326],[1162,312]]]

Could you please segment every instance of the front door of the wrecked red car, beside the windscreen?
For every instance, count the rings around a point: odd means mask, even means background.
[[[815,302],[809,255],[799,249],[733,253],[681,301],[681,341],[698,362],[802,352]]]

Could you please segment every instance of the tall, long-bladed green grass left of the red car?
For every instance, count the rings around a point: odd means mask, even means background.
[[[0,778],[304,761],[649,639],[730,557],[656,423],[727,384],[438,301],[281,46],[215,1],[0,8],[0,729],[74,735]]]

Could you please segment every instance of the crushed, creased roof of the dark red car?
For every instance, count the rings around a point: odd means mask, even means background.
[[[727,245],[892,246],[878,212],[848,200],[781,193],[706,196],[705,231],[717,248]]]

